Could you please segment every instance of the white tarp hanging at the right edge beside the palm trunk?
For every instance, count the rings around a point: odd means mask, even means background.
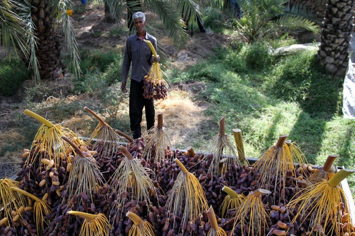
[[[355,119],[355,67],[351,59],[343,84],[343,114],[346,119]]]

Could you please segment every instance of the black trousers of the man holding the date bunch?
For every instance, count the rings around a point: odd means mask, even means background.
[[[154,126],[154,100],[143,97],[143,80],[137,82],[131,80],[130,86],[130,121],[133,138],[140,138],[143,107],[146,108],[147,129]]]

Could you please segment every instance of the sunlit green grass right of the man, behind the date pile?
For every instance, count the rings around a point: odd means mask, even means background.
[[[247,156],[258,157],[288,133],[310,163],[322,165],[328,155],[340,154],[336,165],[355,168],[355,120],[342,118],[342,80],[322,73],[316,52],[271,57],[260,44],[216,53],[170,78],[206,84],[206,90],[193,96],[209,104],[204,114],[209,127],[202,123],[191,138],[197,150],[206,141],[203,137],[218,132],[218,120],[226,115],[230,136],[231,129],[242,129]],[[354,177],[348,181],[355,193]]]

